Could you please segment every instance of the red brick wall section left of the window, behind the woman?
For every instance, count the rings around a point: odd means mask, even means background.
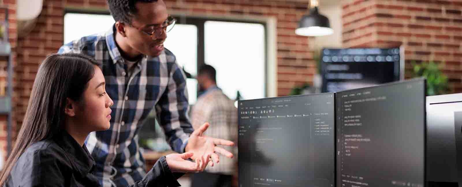
[[[63,44],[65,6],[104,8],[105,0],[43,0],[43,10],[35,28],[24,38],[18,39],[18,66],[15,68],[21,82],[15,89],[19,95],[16,106],[18,124],[24,118],[39,64],[48,54],[56,53]]]

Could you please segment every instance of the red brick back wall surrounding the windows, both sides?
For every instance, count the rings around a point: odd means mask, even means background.
[[[13,5],[14,12],[16,0],[4,1]],[[311,82],[312,75],[316,72],[316,63],[312,60],[312,52],[308,48],[308,37],[295,35],[295,28],[298,20],[307,10],[307,3],[273,0],[164,1],[170,10],[193,15],[210,14],[222,17],[251,15],[277,18],[278,96],[288,95],[294,85]],[[24,118],[39,64],[46,55],[55,53],[63,43],[65,7],[107,9],[106,0],[43,0],[43,10],[38,17],[36,27],[28,36],[16,39],[17,31],[10,30],[15,45],[17,40],[15,51],[18,54],[15,59],[14,75],[16,99],[13,101],[17,120],[14,124],[17,124],[17,129]],[[5,120],[0,116],[0,121]],[[5,140],[2,139],[6,133],[1,132],[2,130],[0,130],[0,145],[6,145]]]

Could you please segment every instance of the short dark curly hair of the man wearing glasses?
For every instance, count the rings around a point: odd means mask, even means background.
[[[108,0],[109,11],[114,20],[132,24],[134,14],[138,12],[135,7],[137,2],[152,3],[158,0]]]

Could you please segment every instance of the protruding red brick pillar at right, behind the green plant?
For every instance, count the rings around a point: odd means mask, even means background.
[[[433,60],[451,92],[462,92],[461,0],[345,0],[342,8],[344,47],[403,45],[407,78],[412,61]]]

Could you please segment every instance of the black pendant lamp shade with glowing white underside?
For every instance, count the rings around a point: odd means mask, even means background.
[[[311,9],[309,15],[300,19],[295,34],[302,36],[326,36],[334,33],[330,28],[329,19],[318,12],[318,7]]]

